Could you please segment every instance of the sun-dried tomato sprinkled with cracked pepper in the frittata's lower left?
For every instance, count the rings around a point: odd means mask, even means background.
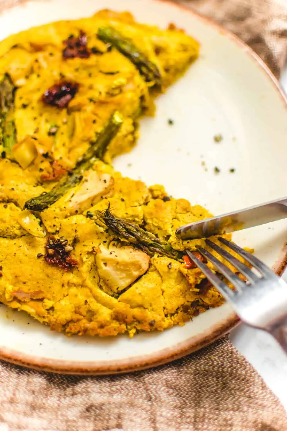
[[[64,271],[74,268],[78,262],[70,256],[73,250],[72,246],[68,245],[68,241],[64,237],[56,239],[48,237],[46,243],[45,261],[53,266],[63,268]]]

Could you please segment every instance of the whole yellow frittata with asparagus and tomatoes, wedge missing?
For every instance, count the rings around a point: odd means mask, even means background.
[[[0,43],[2,303],[67,334],[132,336],[224,302],[184,261],[202,240],[175,237],[208,211],[111,166],[198,55],[174,25],[108,10]]]

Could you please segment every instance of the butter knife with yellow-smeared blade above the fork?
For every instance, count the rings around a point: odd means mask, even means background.
[[[176,236],[181,239],[205,238],[265,225],[265,223],[285,218],[287,218],[287,197],[272,200],[262,205],[250,206],[240,211],[229,212],[211,219],[189,223],[178,228]]]

